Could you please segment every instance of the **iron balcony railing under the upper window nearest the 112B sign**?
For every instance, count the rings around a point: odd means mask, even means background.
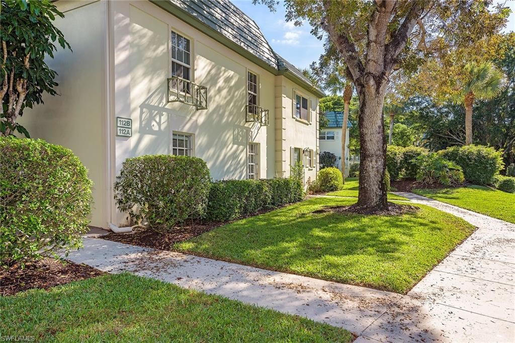
[[[183,104],[195,106],[197,110],[206,110],[208,108],[207,87],[179,76],[169,77],[167,81],[168,102],[182,102]]]

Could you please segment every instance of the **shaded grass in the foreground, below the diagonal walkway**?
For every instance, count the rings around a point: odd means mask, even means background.
[[[37,341],[352,340],[328,324],[130,274],[32,289],[0,305],[2,336]]]

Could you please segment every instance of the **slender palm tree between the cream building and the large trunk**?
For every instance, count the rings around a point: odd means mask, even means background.
[[[347,138],[347,121],[349,120],[349,105],[352,98],[352,82],[347,80],[342,75],[344,74],[343,68],[337,70],[329,75],[325,81],[324,88],[329,91],[331,95],[338,95],[344,93],[344,122],[341,124],[341,177],[345,183],[345,145]]]

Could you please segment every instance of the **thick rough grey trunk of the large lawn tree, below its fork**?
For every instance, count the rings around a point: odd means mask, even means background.
[[[386,144],[383,102],[385,91],[366,87],[359,92],[359,192],[356,206],[362,209],[388,208],[386,187]]]

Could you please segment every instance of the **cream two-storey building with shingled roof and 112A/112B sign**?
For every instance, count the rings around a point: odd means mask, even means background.
[[[61,96],[26,109],[33,138],[71,148],[94,182],[91,224],[122,224],[112,185],[126,158],[196,156],[213,179],[314,180],[318,99],[228,1],[57,1],[73,51],[48,64]]]

